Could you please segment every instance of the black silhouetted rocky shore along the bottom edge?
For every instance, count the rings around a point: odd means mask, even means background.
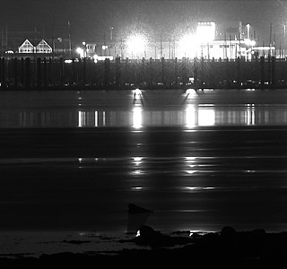
[[[184,231],[166,235],[149,226],[143,226],[140,231],[141,235],[129,242],[149,248],[123,248],[106,254],[65,252],[39,258],[2,258],[0,265],[123,265],[135,268],[177,264],[196,268],[215,265],[221,268],[277,268],[277,265],[283,265],[287,253],[287,232],[236,231],[224,227],[221,232],[195,232],[187,236]],[[81,241],[72,243],[81,244]]]

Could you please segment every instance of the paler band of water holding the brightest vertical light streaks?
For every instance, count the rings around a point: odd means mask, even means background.
[[[241,108],[201,108],[188,105],[182,110],[91,111],[0,111],[0,128],[31,127],[134,127],[144,126],[260,126],[286,125],[287,108],[247,104]]]

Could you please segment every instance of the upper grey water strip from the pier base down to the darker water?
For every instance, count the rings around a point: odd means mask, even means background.
[[[287,124],[277,91],[0,92],[0,128]]]

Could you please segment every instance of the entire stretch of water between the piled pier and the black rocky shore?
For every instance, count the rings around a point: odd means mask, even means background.
[[[1,230],[287,230],[287,91],[0,92]]]

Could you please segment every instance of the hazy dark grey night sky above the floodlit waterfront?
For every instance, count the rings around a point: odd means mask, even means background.
[[[257,30],[260,40],[268,42],[270,23],[273,36],[282,39],[283,23],[287,22],[286,0],[0,0],[0,26],[9,31],[33,31],[35,27],[46,38],[67,35],[71,22],[74,41],[114,36],[131,28],[145,29],[152,34],[174,34],[198,21],[217,24],[242,21]]]

